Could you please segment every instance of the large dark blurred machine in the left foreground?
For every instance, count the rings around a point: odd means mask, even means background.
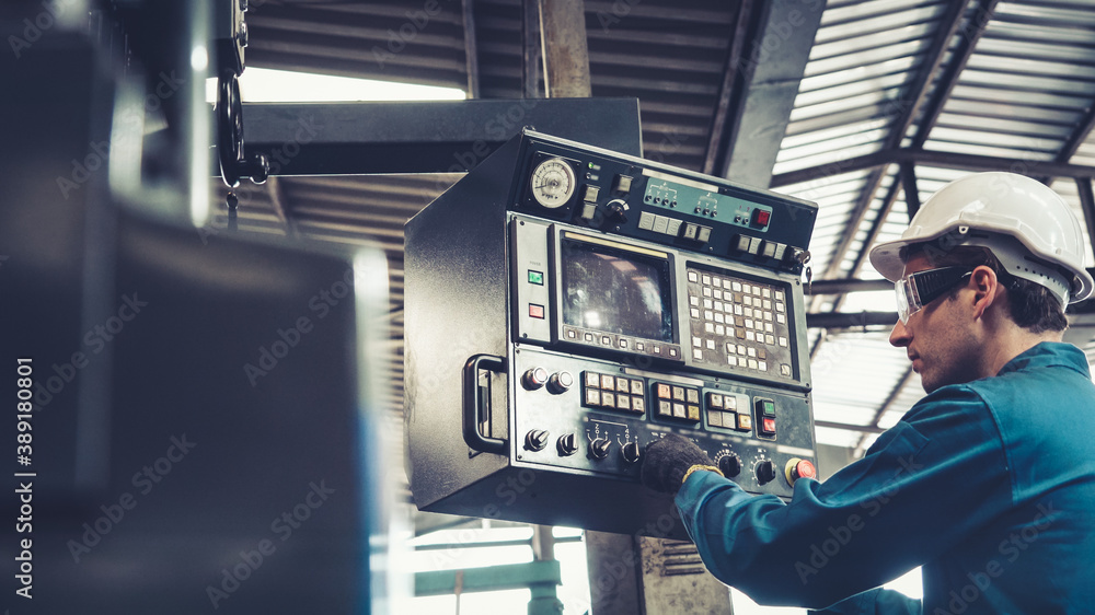
[[[388,612],[387,263],[193,227],[207,8],[0,9],[13,614]]]

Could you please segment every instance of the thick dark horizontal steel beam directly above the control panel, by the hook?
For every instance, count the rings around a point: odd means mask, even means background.
[[[636,98],[244,103],[243,124],[270,175],[464,172],[525,126],[643,153]]]

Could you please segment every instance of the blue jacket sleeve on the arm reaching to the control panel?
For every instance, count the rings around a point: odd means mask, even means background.
[[[931,561],[1011,503],[999,429],[965,385],[924,397],[862,459],[789,503],[715,473],[677,506],[704,564],[760,604],[825,608]]]

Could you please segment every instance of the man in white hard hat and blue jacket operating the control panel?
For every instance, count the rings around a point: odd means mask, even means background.
[[[1095,613],[1095,386],[1062,344],[1086,298],[1083,234],[1033,179],[953,182],[871,252],[895,282],[927,395],[866,455],[784,503],[694,443],[647,448],[707,568],[762,604],[827,613]],[[679,490],[679,491],[678,491]],[[878,588],[923,567],[924,600]]]

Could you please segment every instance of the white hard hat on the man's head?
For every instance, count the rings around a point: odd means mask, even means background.
[[[1023,175],[976,173],[943,186],[901,239],[871,251],[871,264],[896,281],[904,275],[901,248],[925,242],[943,252],[987,247],[1008,274],[1048,288],[1062,305],[1092,292],[1080,221],[1060,195]]]

